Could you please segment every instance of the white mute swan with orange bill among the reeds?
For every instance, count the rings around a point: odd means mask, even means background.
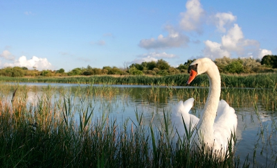
[[[193,98],[188,99],[183,103],[179,101],[177,105],[172,107],[172,124],[177,129],[180,137],[186,136],[186,128],[196,128],[193,138],[193,143],[201,146],[204,142],[206,145],[213,147],[215,150],[222,150],[222,155],[226,152],[231,133],[235,133],[238,118],[235,115],[235,110],[229,106],[224,100],[220,100],[221,81],[220,72],[217,65],[210,58],[199,58],[193,61],[188,67],[190,74],[187,84],[190,84],[193,79],[199,74],[207,74],[209,79],[208,99],[204,106],[203,115],[198,119],[195,115],[190,115],[188,112],[193,107]],[[233,146],[232,146],[233,147]],[[228,151],[227,151],[228,152]]]

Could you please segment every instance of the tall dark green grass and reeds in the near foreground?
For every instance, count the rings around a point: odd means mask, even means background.
[[[233,153],[222,160],[212,148],[194,151],[186,140],[173,141],[166,112],[162,128],[143,124],[139,112],[137,121],[123,124],[92,120],[93,110],[73,109],[69,94],[52,102],[49,92],[37,103],[24,92],[12,102],[1,96],[1,167],[249,167]]]

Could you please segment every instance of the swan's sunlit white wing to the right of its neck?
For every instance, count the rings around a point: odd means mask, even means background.
[[[217,116],[215,117],[215,124],[213,125],[217,144],[223,144],[226,147],[231,133],[235,133],[237,125],[238,118],[235,115],[235,110],[226,101],[221,100],[218,104]]]

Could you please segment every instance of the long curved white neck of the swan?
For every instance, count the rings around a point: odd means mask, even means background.
[[[213,124],[215,122],[218,103],[220,101],[220,72],[216,65],[212,65],[206,72],[209,78],[210,87],[208,90],[208,99],[204,106],[202,118],[199,121],[199,133],[205,143],[213,144]]]

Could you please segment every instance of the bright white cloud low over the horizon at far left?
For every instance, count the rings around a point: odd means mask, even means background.
[[[27,67],[28,69],[36,67],[38,70],[53,69],[47,58],[37,58],[36,56],[33,56],[30,60],[27,60],[26,56],[21,56],[12,63],[4,63],[3,67]]]

